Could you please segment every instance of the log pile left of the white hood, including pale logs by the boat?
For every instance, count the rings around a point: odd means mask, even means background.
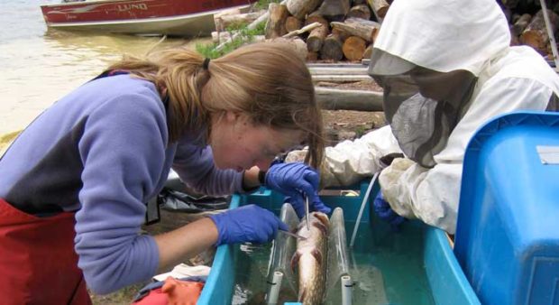
[[[234,21],[254,28],[260,17],[265,18],[266,40],[301,40],[307,46],[307,61],[361,61],[371,57],[379,21],[388,8],[386,0],[285,0],[260,13],[216,15],[212,36],[217,43],[231,41],[228,25]]]

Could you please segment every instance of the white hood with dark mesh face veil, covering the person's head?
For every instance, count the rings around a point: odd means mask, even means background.
[[[507,18],[493,0],[390,5],[369,74],[384,87],[388,121],[409,158],[435,166],[433,156],[469,107],[477,78],[509,44]]]

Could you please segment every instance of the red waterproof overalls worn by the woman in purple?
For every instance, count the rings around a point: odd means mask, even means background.
[[[74,251],[74,214],[34,217],[0,199],[0,300],[91,304]]]

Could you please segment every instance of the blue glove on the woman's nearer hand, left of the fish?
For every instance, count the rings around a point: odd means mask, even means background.
[[[255,205],[234,208],[211,215],[217,226],[215,245],[237,243],[266,243],[278,233],[278,229],[288,231],[289,227],[280,218],[265,208]]]

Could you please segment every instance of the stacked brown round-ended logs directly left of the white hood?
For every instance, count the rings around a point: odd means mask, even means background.
[[[379,7],[380,12],[371,5]],[[272,19],[272,11],[280,10],[276,6],[283,6],[281,11],[287,15]],[[360,61],[371,56],[370,47],[380,29],[377,15],[384,16],[388,6],[380,0],[287,0],[270,5],[266,38],[280,36],[278,31],[269,32],[270,27],[281,28],[287,32],[283,36],[298,37],[307,43],[308,61]]]

